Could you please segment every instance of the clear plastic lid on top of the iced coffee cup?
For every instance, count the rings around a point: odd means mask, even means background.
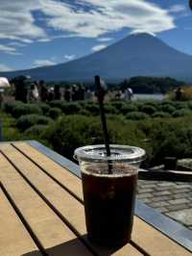
[[[108,157],[106,147],[101,145],[87,145],[75,150],[74,158],[86,162],[127,162],[138,163],[145,159],[146,152],[142,148],[130,145],[110,145],[111,155]]]

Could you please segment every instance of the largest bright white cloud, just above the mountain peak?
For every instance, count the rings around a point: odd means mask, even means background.
[[[136,32],[157,33],[175,27],[174,19],[165,10],[144,0],[79,0],[91,4],[91,10],[74,11],[74,4],[50,1],[44,12],[53,18],[49,26],[74,36],[96,38],[108,32],[131,28]],[[60,5],[60,8],[57,8]]]

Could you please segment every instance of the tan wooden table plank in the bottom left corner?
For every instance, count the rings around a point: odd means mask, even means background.
[[[0,209],[0,255],[20,256],[36,252],[36,256],[42,256],[1,188]]]

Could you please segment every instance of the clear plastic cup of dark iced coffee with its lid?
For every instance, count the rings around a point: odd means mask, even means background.
[[[105,246],[129,243],[138,166],[145,151],[128,145],[77,148],[84,191],[84,213],[88,239]]]

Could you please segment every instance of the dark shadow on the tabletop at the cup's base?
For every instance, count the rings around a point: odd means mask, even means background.
[[[86,236],[83,236],[84,241],[86,244],[90,244],[93,251],[99,252],[102,256],[109,256],[113,254],[115,251],[119,250],[120,248],[110,248],[107,247],[100,247],[94,243],[89,243],[87,241]],[[88,246],[88,245],[87,245]],[[71,241],[68,241],[66,243],[61,243],[59,245],[56,245],[54,247],[46,249],[47,255],[54,255],[54,256],[90,256],[94,255],[94,253],[91,253],[90,249],[86,249],[84,243],[80,241],[80,239],[74,239]],[[98,253],[97,253],[98,254]],[[25,254],[22,254],[21,256],[41,256],[42,254],[39,251],[32,251]]]

